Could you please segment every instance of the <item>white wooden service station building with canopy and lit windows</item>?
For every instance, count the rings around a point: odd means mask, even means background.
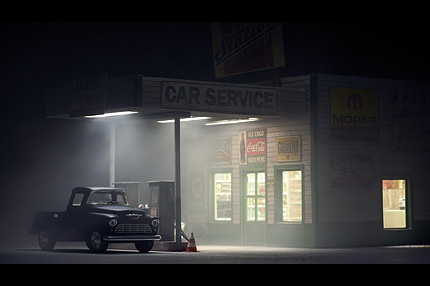
[[[179,151],[180,218],[199,243],[430,243],[429,83],[312,74],[271,85],[93,77],[50,89],[47,116],[109,126],[106,185],[150,212],[174,197],[148,182],[177,181]],[[124,111],[128,121],[85,118]]]

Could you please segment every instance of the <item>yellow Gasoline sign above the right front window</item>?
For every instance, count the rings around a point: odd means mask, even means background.
[[[300,160],[300,136],[287,136],[276,138],[276,161],[293,162]]]

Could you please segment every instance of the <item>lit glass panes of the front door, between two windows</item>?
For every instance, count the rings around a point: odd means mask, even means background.
[[[246,174],[246,220],[266,220],[266,173]]]

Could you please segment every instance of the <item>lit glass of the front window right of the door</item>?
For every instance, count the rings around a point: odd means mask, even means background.
[[[302,222],[302,171],[282,172],[282,221]]]

